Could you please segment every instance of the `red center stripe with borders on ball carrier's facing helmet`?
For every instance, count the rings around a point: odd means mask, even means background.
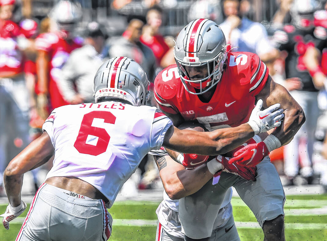
[[[201,28],[208,19],[200,18],[193,21],[188,34],[187,34],[187,41],[186,41],[186,52],[188,52],[187,57],[197,57],[198,56],[198,40]]]

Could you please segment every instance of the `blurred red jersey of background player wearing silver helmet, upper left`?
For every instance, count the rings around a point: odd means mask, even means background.
[[[49,94],[52,108],[69,104],[64,100],[56,81],[61,77],[61,68],[66,63],[69,54],[82,47],[82,41],[76,38],[71,42],[61,38],[60,33],[40,34],[35,40],[37,50],[43,50],[49,54]]]

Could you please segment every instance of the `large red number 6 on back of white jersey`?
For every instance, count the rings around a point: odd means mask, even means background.
[[[79,153],[97,156],[107,150],[110,135],[106,129],[92,126],[94,118],[103,119],[105,123],[115,124],[116,116],[108,111],[92,111],[83,116],[74,147]],[[96,145],[87,144],[92,138],[96,139]]]

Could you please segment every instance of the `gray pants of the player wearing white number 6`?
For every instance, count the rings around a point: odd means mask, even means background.
[[[78,199],[43,183],[16,241],[106,241],[112,217],[100,199]]]

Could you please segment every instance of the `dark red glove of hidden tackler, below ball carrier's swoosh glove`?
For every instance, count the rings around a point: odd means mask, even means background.
[[[219,161],[223,166],[224,166],[224,170],[223,172],[230,172],[233,173],[235,175],[239,175],[242,178],[244,178],[245,180],[252,180],[255,181],[255,176],[256,176],[256,167],[243,167],[238,165],[237,163],[232,163],[229,164],[229,159],[228,157],[223,157],[223,156],[217,156],[216,160]]]

